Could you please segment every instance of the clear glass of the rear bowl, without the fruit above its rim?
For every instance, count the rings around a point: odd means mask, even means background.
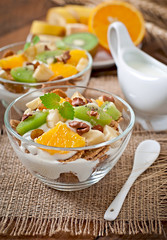
[[[20,49],[24,48],[24,44],[25,42],[17,42],[0,48],[0,59],[2,58],[3,54],[8,50],[12,50],[14,53],[17,53]],[[32,92],[34,89],[39,89],[44,85],[45,87],[52,85],[55,86],[56,84],[87,86],[92,69],[92,57],[88,52],[87,57],[88,65],[84,70],[73,76],[63,78],[60,80],[55,80],[51,82],[48,81],[38,83],[23,83],[0,77],[0,100],[2,101],[3,105],[7,107],[9,103],[11,103],[13,100],[23,95],[24,93]]]

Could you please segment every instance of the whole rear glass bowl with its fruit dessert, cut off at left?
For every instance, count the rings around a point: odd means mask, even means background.
[[[92,68],[88,52],[62,50],[54,42],[34,39],[31,43],[18,42],[0,48],[0,100],[6,106],[41,87],[87,86]]]

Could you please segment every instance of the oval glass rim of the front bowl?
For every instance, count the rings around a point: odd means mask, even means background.
[[[104,146],[107,146],[107,145],[110,145],[112,143],[115,143],[116,141],[120,140],[121,138],[123,138],[124,136],[126,136],[130,131],[131,129],[133,128],[134,126],[134,123],[135,123],[135,114],[134,114],[134,111],[133,109],[131,108],[131,106],[126,102],[124,101],[121,97],[115,95],[115,94],[112,94],[108,91],[105,91],[105,90],[99,90],[99,89],[96,89],[96,88],[90,88],[90,87],[83,87],[83,86],[71,86],[71,85],[57,85],[56,88],[83,88],[83,89],[88,89],[88,90],[94,90],[94,91],[98,91],[98,92],[101,92],[101,93],[105,93],[105,94],[108,94],[108,95],[112,95],[113,97],[115,97],[116,99],[118,99],[120,102],[122,102],[126,107],[127,109],[130,111],[130,123],[129,125],[126,127],[126,129],[120,134],[118,135],[116,138],[113,138],[109,141],[105,141],[105,142],[102,142],[102,143],[99,143],[99,144],[96,144],[96,145],[91,145],[91,146],[85,146],[85,147],[76,147],[76,148],[62,148],[62,147],[50,147],[50,146],[46,146],[46,145],[42,145],[42,144],[38,144],[36,142],[33,142],[33,141],[30,141],[30,140],[27,140],[25,139],[24,137],[20,136],[16,131],[14,131],[14,129],[11,127],[10,125],[10,122],[8,121],[8,116],[9,116],[9,112],[10,112],[10,109],[12,108],[12,106],[14,106],[14,104],[16,102],[18,102],[20,99],[22,99],[23,97],[26,97],[34,92],[38,92],[39,90],[41,89],[37,89],[37,90],[34,90],[32,91],[31,93],[26,93],[26,94],[23,94],[22,96],[18,97],[17,99],[15,99],[13,102],[10,103],[10,105],[7,107],[6,111],[5,111],[5,114],[4,114],[4,123],[5,123],[5,126],[7,128],[7,130],[11,133],[11,135],[13,135],[15,138],[19,139],[20,141],[24,142],[24,143],[27,143],[28,145],[32,145],[32,146],[35,146],[35,147],[38,147],[38,148],[43,148],[43,149],[48,149],[48,150],[55,150],[55,151],[81,151],[81,150],[90,150],[90,149],[96,149],[96,148],[100,148],[100,147],[104,147]],[[50,89],[50,88],[55,88],[55,86],[52,86],[52,87],[46,87],[46,88],[43,88],[43,90],[47,90],[47,89]]]

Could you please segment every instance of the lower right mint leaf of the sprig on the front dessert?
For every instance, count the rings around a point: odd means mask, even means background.
[[[63,102],[58,108],[60,115],[65,119],[74,119],[74,108],[69,102]]]

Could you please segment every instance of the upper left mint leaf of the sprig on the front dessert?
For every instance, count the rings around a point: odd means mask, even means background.
[[[40,97],[43,105],[48,109],[57,109],[60,106],[60,96],[56,93],[46,93]]]

